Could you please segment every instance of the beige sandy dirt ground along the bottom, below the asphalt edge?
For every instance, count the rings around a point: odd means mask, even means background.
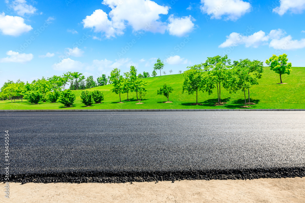
[[[1,202],[305,202],[305,178],[9,186]]]

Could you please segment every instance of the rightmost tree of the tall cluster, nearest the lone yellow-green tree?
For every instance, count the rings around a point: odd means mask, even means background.
[[[262,73],[264,72],[264,63],[258,60],[240,59],[240,61],[235,65],[240,68],[246,69],[248,72],[247,81],[251,82],[251,86],[258,85],[258,79],[261,79]],[[251,74],[251,75],[250,75]],[[248,99],[250,103],[250,89],[248,88]]]

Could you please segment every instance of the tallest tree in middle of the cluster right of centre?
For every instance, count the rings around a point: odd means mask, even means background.
[[[215,56],[208,57],[206,62],[202,64],[204,66],[204,70],[208,71],[207,75],[205,75],[204,80],[205,85],[203,89],[207,91],[209,94],[213,93],[212,89],[214,89],[215,85],[217,87],[217,95],[218,95],[218,105],[221,103],[221,85],[226,88],[226,81],[228,79],[227,70],[232,68],[231,60],[228,59],[228,55],[224,57]]]

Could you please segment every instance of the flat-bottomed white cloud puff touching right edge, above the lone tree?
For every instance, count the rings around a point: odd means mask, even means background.
[[[269,47],[281,50],[302,49],[305,48],[305,39],[292,40],[292,37],[289,35],[281,39],[272,39]]]

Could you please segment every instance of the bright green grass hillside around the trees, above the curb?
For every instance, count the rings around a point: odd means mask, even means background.
[[[189,95],[188,93],[182,94],[183,75],[165,75],[158,77],[151,77],[143,79],[148,82],[146,89],[148,90],[144,100],[144,104],[138,103],[136,100],[136,94],[130,93],[129,99],[131,101],[124,101],[127,99],[127,94],[121,95],[121,99],[124,103],[118,104],[120,101],[119,95],[111,93],[110,89],[112,85],[106,85],[101,87],[92,88],[89,91],[98,89],[103,91],[105,100],[102,104],[93,104],[92,107],[84,107],[81,103],[81,90],[73,91],[77,100],[74,107],[71,109],[238,109],[243,106],[244,94],[239,91],[235,94],[229,94],[223,88],[221,89],[221,98],[228,104],[225,106],[215,107],[214,103],[217,102],[217,89],[211,95],[200,92],[198,94],[198,102],[202,103],[202,106],[192,106],[192,103],[196,102],[196,94]],[[260,85],[253,86],[250,89],[251,102],[257,103],[252,105],[255,109],[305,109],[305,68],[294,67],[290,75],[283,75],[282,80],[288,84],[277,85],[280,82],[279,75],[271,71],[269,68],[264,68]],[[173,103],[163,103],[167,101],[165,96],[158,95],[157,89],[167,84],[174,88],[173,93],[170,94],[170,101]],[[0,102],[0,109],[60,109],[63,108],[61,103],[42,103],[33,105],[27,101],[11,103],[6,100]]]

